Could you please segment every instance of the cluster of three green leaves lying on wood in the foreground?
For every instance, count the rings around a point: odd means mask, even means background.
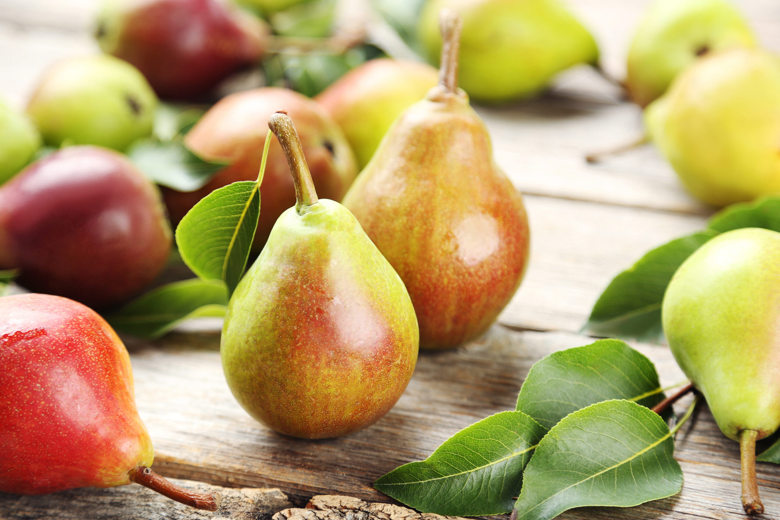
[[[664,398],[653,363],[623,341],[555,352],[531,368],[516,410],[468,426],[374,487],[423,512],[516,509],[523,520],[670,497],[683,486],[673,437],[687,416],[670,430],[650,409]]]

